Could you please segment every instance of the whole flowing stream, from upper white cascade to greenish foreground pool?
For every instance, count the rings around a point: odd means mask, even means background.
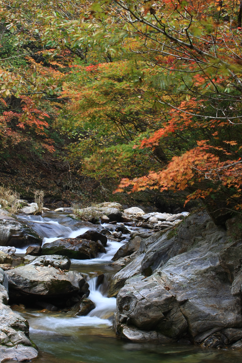
[[[63,237],[77,237],[90,226],[77,223],[65,213],[48,212],[43,216],[20,217],[21,221],[44,237],[43,243]],[[109,226],[112,228],[112,226]],[[128,235],[126,236],[128,240]],[[111,258],[126,242],[108,241],[107,253],[92,260],[71,260],[71,270],[82,272],[89,283],[89,298],[96,307],[87,316],[25,309],[21,312],[30,325],[30,338],[40,349],[40,363],[230,363],[241,362],[239,351],[206,349],[180,344],[140,344],[121,340],[112,330],[116,299],[107,298],[108,280],[116,273]],[[16,254],[23,256],[26,248]],[[95,272],[105,279],[97,287]]]

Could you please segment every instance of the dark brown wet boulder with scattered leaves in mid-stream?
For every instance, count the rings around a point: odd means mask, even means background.
[[[97,257],[98,253],[105,253],[106,250],[100,241],[94,242],[82,238],[62,238],[42,246],[44,254],[58,254],[86,260]]]

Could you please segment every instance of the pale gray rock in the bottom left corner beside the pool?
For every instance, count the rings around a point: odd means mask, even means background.
[[[29,340],[29,324],[11,310],[8,303],[7,279],[0,269],[0,362],[16,360],[27,362],[36,358],[38,351]]]

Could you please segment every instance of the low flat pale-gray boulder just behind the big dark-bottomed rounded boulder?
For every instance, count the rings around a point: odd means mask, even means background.
[[[33,266],[50,265],[61,270],[69,270],[71,265],[70,258],[66,256],[59,256],[56,254],[39,256],[39,257],[26,255],[24,256],[22,263],[24,265],[33,265]]]

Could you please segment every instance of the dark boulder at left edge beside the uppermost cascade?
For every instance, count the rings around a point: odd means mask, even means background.
[[[42,238],[26,224],[0,219],[0,245],[22,248],[30,244],[42,245]]]

